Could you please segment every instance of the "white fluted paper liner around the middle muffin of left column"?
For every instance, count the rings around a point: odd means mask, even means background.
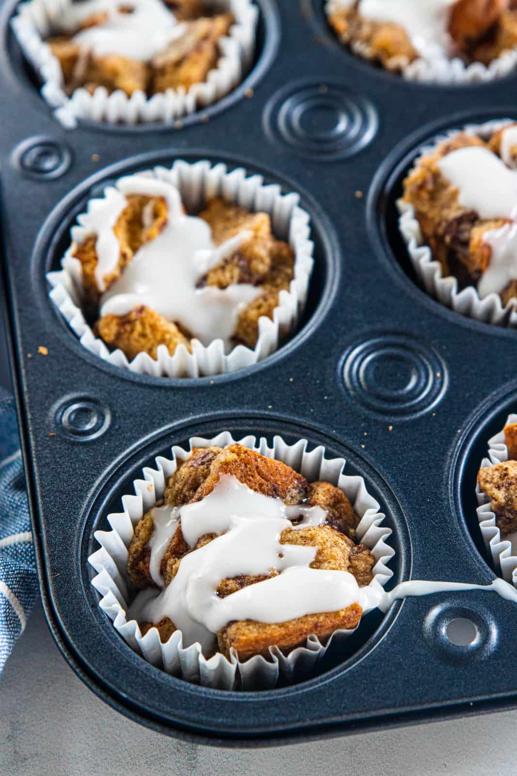
[[[289,290],[283,290],[278,297],[278,307],[273,319],[262,316],[258,323],[257,345],[252,350],[237,345],[225,354],[221,339],[214,340],[208,347],[198,340],[192,340],[192,352],[179,345],[170,355],[165,345],[157,348],[157,359],[147,353],[139,353],[129,362],[121,350],[109,351],[105,343],[95,337],[81,311],[82,271],[81,262],[71,256],[70,249],[61,262],[60,272],[48,272],[47,279],[53,286],[50,298],[59,308],[71,329],[78,335],[81,345],[89,352],[115,366],[130,369],[138,374],[168,377],[198,377],[234,372],[256,364],[277,350],[281,340],[293,331],[305,307],[308,282],[314,263],[314,244],[310,240],[311,228],[308,213],[298,207],[299,196],[295,193],[282,194],[279,185],[264,185],[260,175],[246,177],[243,168],[227,171],[226,165],[211,166],[209,161],[195,164],[181,159],[172,168],[156,167],[140,175],[156,177],[177,186],[181,199],[188,211],[199,210],[207,199],[221,196],[246,210],[263,211],[271,217],[274,234],[288,241],[295,251],[294,277]],[[116,184],[115,184],[116,185]],[[105,195],[112,187],[107,186]],[[98,206],[98,199],[91,199],[88,211]],[[72,240],[81,242],[85,229],[81,226],[71,229]]]

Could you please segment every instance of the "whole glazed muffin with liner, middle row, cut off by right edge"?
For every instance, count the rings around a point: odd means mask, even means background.
[[[426,289],[462,314],[501,325],[515,323],[516,182],[517,124],[471,126],[426,148],[398,202]]]

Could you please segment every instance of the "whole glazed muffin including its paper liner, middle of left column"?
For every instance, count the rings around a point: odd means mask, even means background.
[[[81,344],[114,365],[155,376],[234,371],[294,330],[309,237],[295,193],[178,160],[89,200],[62,271],[47,275],[50,296]]]

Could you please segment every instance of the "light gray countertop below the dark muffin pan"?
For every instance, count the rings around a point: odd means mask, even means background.
[[[60,656],[37,605],[0,677],[2,776],[503,776],[517,712],[260,750],[182,743],[99,700]]]

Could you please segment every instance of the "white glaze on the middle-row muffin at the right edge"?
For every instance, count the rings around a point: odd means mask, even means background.
[[[505,154],[515,143],[515,127],[501,140]],[[491,293],[500,293],[511,280],[517,279],[517,170],[508,169],[504,161],[488,148],[469,146],[451,151],[439,160],[442,175],[458,189],[458,201],[468,210],[474,210],[481,219],[507,218],[498,229],[485,232],[483,240],[491,248],[488,268],[477,283],[477,291],[484,299]]]

